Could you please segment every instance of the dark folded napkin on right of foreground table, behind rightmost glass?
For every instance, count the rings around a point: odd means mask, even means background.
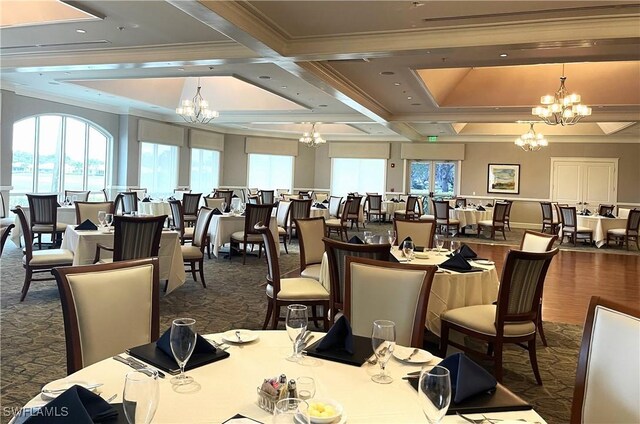
[[[448,356],[438,365],[449,370],[454,403],[496,387],[496,379],[464,353]]]

